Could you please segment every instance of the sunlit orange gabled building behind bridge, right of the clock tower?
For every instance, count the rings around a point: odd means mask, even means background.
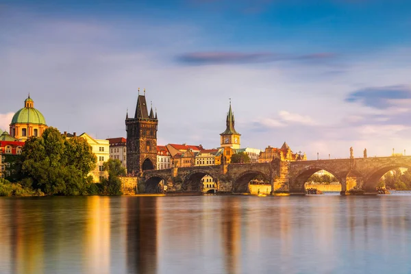
[[[271,162],[273,159],[280,159],[282,161],[294,162],[307,160],[306,153],[293,153],[286,142],[281,148],[268,146],[264,151],[260,152],[258,162]]]

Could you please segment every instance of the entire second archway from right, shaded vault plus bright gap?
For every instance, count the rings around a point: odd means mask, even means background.
[[[329,186],[332,184],[332,186]],[[290,182],[291,194],[316,194],[328,188],[338,188],[345,192],[346,186],[341,184],[340,178],[327,169],[321,167],[310,167],[295,177]],[[316,191],[316,190],[319,191]],[[340,194],[340,192],[332,192]]]

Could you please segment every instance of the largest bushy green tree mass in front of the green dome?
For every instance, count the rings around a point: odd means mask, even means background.
[[[84,195],[92,183],[88,173],[97,157],[87,141],[73,137],[66,140],[54,127],[41,137],[29,138],[23,146],[16,169],[21,183],[46,195]]]

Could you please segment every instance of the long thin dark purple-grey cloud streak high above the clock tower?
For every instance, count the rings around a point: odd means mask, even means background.
[[[231,51],[209,51],[185,53],[177,57],[182,64],[253,64],[279,61],[323,61],[334,58],[334,53],[312,53],[307,55],[291,55],[271,52],[242,53]]]

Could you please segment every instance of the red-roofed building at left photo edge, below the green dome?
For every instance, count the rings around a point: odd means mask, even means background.
[[[0,178],[10,176],[10,162],[16,155],[21,154],[24,142],[10,136],[8,132],[0,130]]]

